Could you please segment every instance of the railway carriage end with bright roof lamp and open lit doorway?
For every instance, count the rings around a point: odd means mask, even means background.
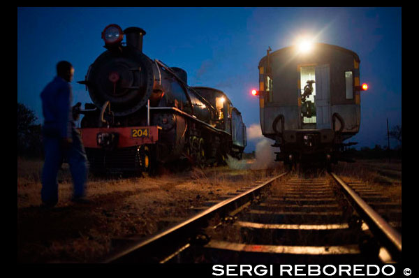
[[[342,150],[360,128],[358,54],[325,43],[270,51],[258,64],[258,95],[262,133],[279,147],[276,161],[291,168],[350,161]]]

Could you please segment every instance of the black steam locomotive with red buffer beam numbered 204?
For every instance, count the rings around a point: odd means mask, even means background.
[[[102,32],[105,48],[85,80],[93,103],[78,105],[80,135],[92,172],[154,173],[157,165],[189,161],[198,166],[241,158],[246,126],[226,94],[189,87],[182,68],[169,67],[142,52],[146,32]],[[122,43],[126,36],[126,43]]]

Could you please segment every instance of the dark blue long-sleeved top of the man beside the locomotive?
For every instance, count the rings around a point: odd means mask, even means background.
[[[60,138],[71,138],[71,129],[75,127],[71,102],[71,85],[56,76],[41,92],[44,129]]]

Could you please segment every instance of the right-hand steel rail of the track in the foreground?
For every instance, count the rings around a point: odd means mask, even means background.
[[[344,189],[344,193],[352,201],[355,210],[361,216],[365,217],[365,221],[373,232],[378,233],[380,238],[386,243],[390,254],[393,258],[399,260],[402,257],[402,235],[398,233],[387,221],[383,219],[372,207],[370,207],[365,200],[362,200],[351,187],[349,187],[343,180],[341,180],[335,173],[329,173],[333,179]]]

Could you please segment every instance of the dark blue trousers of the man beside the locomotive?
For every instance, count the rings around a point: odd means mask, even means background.
[[[41,199],[43,203],[55,205],[58,203],[58,170],[61,161],[66,157],[73,177],[73,198],[84,196],[87,180],[87,156],[78,132],[72,131],[73,143],[67,149],[61,145],[61,138],[48,132],[43,132],[45,162],[42,171]]]

